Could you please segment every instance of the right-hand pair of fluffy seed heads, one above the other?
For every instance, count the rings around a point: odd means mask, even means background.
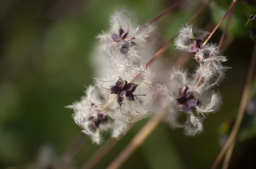
[[[229,67],[216,44],[203,40],[209,33],[186,25],[176,38],[177,49],[194,54],[199,63],[195,73],[188,75],[184,70],[173,70],[165,85],[157,85],[156,91],[162,96],[162,106],[169,106],[164,119],[171,127],[183,128],[186,135],[194,136],[203,131],[203,119],[215,112],[221,103],[220,94],[211,90],[225,77]]]

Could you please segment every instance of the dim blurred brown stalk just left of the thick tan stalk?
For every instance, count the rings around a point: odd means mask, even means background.
[[[92,169],[109,151],[116,145],[118,140],[109,138],[101,148],[99,148],[89,160],[81,167],[81,169]]]

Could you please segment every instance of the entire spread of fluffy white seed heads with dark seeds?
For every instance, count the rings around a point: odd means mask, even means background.
[[[108,134],[119,138],[130,123],[148,117],[156,106],[168,107],[164,121],[171,127],[183,128],[191,136],[202,132],[203,119],[221,103],[220,95],[210,89],[228,69],[222,65],[227,59],[217,45],[203,45],[209,33],[191,25],[180,29],[176,48],[193,53],[199,66],[193,74],[172,70],[166,81],[163,71],[152,73],[145,67],[144,60],[156,53],[154,26],[140,30],[132,12],[125,9],[114,13],[109,23],[109,30],[97,36],[99,42],[92,54],[97,70],[94,85],[87,87],[80,101],[66,106],[74,110],[73,118],[82,132],[97,144]]]

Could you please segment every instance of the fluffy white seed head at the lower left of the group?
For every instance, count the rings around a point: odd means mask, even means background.
[[[85,94],[81,101],[66,107],[74,110],[75,123],[82,127],[82,131],[89,135],[94,143],[101,143],[101,134],[104,131],[112,131],[115,138],[126,132],[127,123],[115,115],[116,106],[106,106],[109,98],[104,98],[94,86],[89,86]]]

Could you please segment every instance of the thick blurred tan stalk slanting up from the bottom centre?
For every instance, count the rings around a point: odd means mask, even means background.
[[[168,108],[162,109],[157,115],[150,119],[144,127],[133,137],[130,143],[112,161],[106,169],[117,169],[130,157],[130,155],[145,141],[145,139],[157,127],[162,118],[167,114]]]

